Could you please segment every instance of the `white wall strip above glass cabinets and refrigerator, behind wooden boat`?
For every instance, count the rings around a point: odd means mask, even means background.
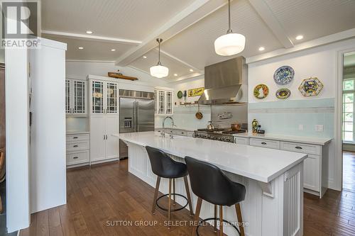
[[[153,84],[153,86],[167,86],[168,83],[163,79],[151,77],[150,74],[138,71],[131,67],[118,67],[114,62],[77,62],[68,60],[65,63],[66,76],[86,78],[88,74],[107,77],[107,72],[121,72],[124,75],[137,77],[139,82]]]

